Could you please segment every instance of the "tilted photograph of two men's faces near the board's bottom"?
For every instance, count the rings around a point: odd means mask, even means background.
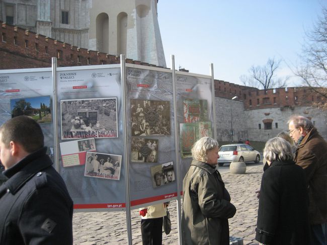
[[[175,181],[173,162],[151,167],[151,176],[153,188],[173,183]]]

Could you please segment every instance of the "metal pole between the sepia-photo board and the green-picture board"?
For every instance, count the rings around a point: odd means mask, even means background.
[[[178,121],[177,121],[177,95],[176,95],[176,81],[175,81],[175,58],[172,55],[172,75],[173,75],[173,101],[174,101],[174,125],[175,125],[175,149],[179,147],[179,137],[178,137]],[[177,218],[178,218],[178,243],[182,244],[182,204],[181,204],[181,174],[180,174],[180,158],[178,150],[175,150],[176,158],[176,175],[177,175]]]

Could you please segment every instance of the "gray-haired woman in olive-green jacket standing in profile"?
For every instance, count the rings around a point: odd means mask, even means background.
[[[216,170],[218,142],[199,139],[192,148],[191,167],[183,180],[182,236],[185,244],[229,244],[228,219],[236,208]]]

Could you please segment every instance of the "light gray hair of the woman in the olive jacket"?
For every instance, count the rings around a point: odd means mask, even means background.
[[[212,150],[218,146],[219,144],[217,140],[214,140],[210,137],[202,137],[194,143],[192,148],[192,157],[193,159],[207,162],[207,151]]]

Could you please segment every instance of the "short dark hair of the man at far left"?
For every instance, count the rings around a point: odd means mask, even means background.
[[[5,122],[0,127],[3,143],[9,147],[14,141],[23,149],[32,153],[44,146],[44,136],[40,125],[30,117],[18,116]]]

